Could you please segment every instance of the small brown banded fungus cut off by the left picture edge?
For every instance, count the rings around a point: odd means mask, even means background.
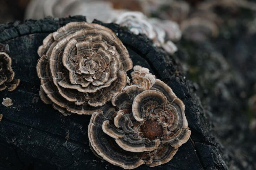
[[[8,44],[0,44],[0,91],[6,88],[8,88],[8,91],[13,91],[20,84],[20,79],[14,79],[15,73],[12,70],[12,59],[8,53]]]

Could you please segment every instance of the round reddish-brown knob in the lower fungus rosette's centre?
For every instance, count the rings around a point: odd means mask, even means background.
[[[144,137],[148,138],[149,140],[154,140],[162,137],[163,129],[162,126],[155,120],[146,120],[141,125],[141,132],[143,133]]]

